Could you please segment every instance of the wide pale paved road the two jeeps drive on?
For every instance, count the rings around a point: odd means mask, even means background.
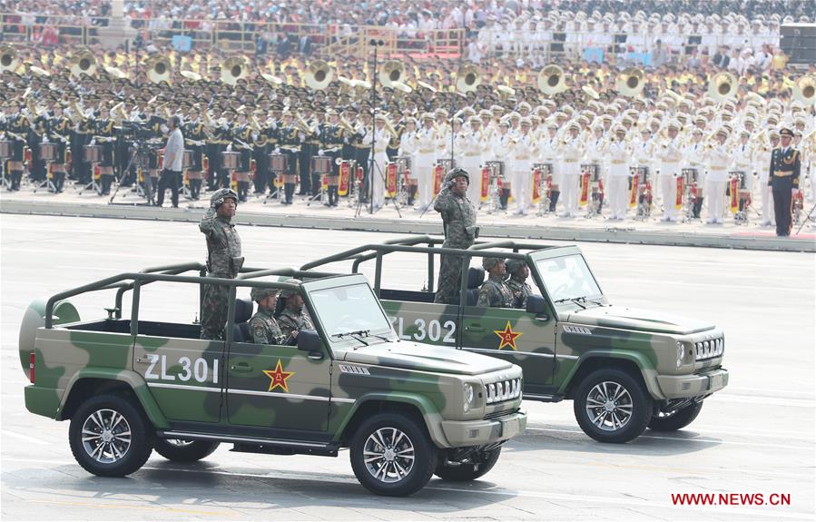
[[[25,520],[812,520],[814,267],[812,254],[582,244],[615,303],[708,318],[726,330],[731,384],[681,432],[602,445],[572,403],[525,402],[530,427],[483,480],[434,479],[415,497],[372,497],[348,457],[275,457],[220,448],[181,466],[153,456],[130,478],[89,476],[67,424],[25,411],[16,353],[27,303],[120,271],[202,260],[192,223],[0,214],[0,515]],[[253,265],[296,265],[388,234],[241,227]],[[401,261],[400,261],[401,262]],[[400,267],[406,279],[418,273]],[[409,281],[412,285],[421,281]],[[173,310],[167,294],[162,308]],[[79,302],[85,317],[108,301]],[[677,493],[774,493],[789,506],[673,506]]]

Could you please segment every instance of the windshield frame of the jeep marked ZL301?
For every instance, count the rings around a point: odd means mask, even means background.
[[[369,345],[372,344],[379,344],[381,342],[388,342],[388,341],[396,341],[397,334],[394,332],[394,328],[391,325],[391,322],[388,320],[388,315],[386,314],[385,310],[382,308],[382,303],[379,302],[377,295],[375,295],[373,289],[369,285],[368,280],[363,275],[353,275],[353,276],[341,276],[339,278],[329,278],[331,280],[331,284],[315,284],[324,281],[310,281],[304,283],[302,285],[303,290],[306,293],[307,300],[309,302],[309,310],[311,311],[311,319],[314,322],[315,328],[320,330],[322,334],[323,340],[327,343],[327,347],[329,350],[332,348],[352,348],[356,347],[357,345],[362,345],[368,343]],[[327,281],[328,282],[328,281]],[[379,310],[379,315],[383,321],[383,328],[378,330],[369,330],[367,335],[349,335],[344,336],[343,338],[338,338],[337,334],[332,335],[329,332],[328,326],[324,320],[324,314],[321,313],[320,306],[318,306],[318,300],[315,300],[316,294],[323,292],[323,291],[332,291],[341,288],[350,288],[350,287],[365,287],[368,289],[370,298],[374,300],[377,305],[377,310]],[[349,326],[349,332],[360,330],[359,328],[355,328],[353,326]],[[379,337],[378,337],[379,336]],[[380,338],[387,338],[388,340],[382,340]],[[364,340],[365,342],[360,342],[359,338]]]

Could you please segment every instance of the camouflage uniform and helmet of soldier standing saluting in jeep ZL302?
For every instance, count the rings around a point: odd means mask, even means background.
[[[478,237],[476,226],[476,208],[467,199],[467,195],[459,196],[450,190],[450,184],[457,176],[465,176],[469,182],[467,172],[454,170],[448,172],[445,186],[437,195],[434,210],[442,216],[445,228],[444,248],[466,250],[473,245]],[[459,304],[459,287],[462,281],[462,258],[458,256],[441,256],[439,261],[439,287],[434,302]]]

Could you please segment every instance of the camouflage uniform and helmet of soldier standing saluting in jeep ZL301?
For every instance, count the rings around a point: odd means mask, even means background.
[[[215,213],[216,201],[223,202],[224,197],[233,197],[235,192],[223,189],[215,192],[211,198],[210,209],[199,223],[199,230],[207,238],[207,277],[235,279],[243,265],[241,257],[241,237],[235,231],[235,225],[229,220],[218,217]],[[234,196],[238,201],[237,196]],[[220,284],[206,284],[202,298],[202,339],[224,339],[224,326],[227,324],[227,307],[230,299],[230,287]]]

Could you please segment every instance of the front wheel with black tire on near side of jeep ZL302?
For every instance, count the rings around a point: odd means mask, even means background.
[[[640,379],[629,372],[596,369],[575,390],[573,409],[586,435],[599,442],[621,444],[644,432],[652,419],[652,398]],[[616,426],[615,420],[620,421],[621,426]]]

